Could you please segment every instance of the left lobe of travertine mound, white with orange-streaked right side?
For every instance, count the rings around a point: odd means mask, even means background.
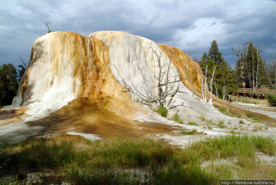
[[[109,66],[108,47],[102,41],[73,32],[48,33],[33,44],[12,106],[39,116],[73,99],[128,97]]]

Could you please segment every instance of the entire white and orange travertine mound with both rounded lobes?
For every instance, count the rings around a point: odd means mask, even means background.
[[[95,102],[104,97],[132,97],[140,101],[137,93],[126,93],[126,84],[145,97],[156,96],[157,56],[163,69],[172,62],[170,81],[194,77],[193,92],[200,96],[200,67],[180,49],[119,31],[99,31],[88,37],[52,32],[34,42],[12,107],[25,107],[27,114],[43,116],[74,99]],[[192,95],[191,81],[177,82],[172,88],[177,86],[180,92]],[[178,105],[182,101],[173,102]]]

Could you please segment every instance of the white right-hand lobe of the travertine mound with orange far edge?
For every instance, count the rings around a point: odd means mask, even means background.
[[[164,66],[163,71],[165,72],[170,57],[173,55],[171,59],[173,64],[170,65],[169,69],[169,80],[175,81],[180,78],[194,77],[192,78],[193,91],[196,92],[197,96],[200,96],[201,79],[203,78],[200,66],[180,49],[167,45],[157,45],[147,38],[119,31],[99,31],[91,33],[89,37],[99,39],[109,47],[111,72],[122,85],[124,84],[123,79],[132,89],[137,89],[144,96],[149,96],[149,94],[156,96],[156,77],[159,71],[157,56],[160,56],[161,66]],[[191,90],[189,80],[183,80],[182,83],[179,83],[180,91],[191,94],[188,90]],[[174,86],[177,87],[178,82]],[[133,100],[139,99],[135,96],[132,97]]]

